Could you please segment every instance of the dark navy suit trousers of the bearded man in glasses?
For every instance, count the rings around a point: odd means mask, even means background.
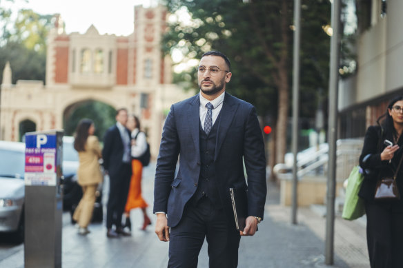
[[[170,228],[169,268],[197,268],[205,237],[210,268],[237,267],[241,236],[216,207],[206,197],[186,205],[179,224]]]

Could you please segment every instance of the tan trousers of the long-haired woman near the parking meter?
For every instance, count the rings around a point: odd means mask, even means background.
[[[86,228],[90,224],[92,212],[94,211],[95,192],[97,191],[97,187],[97,184],[81,187],[83,189],[83,197],[72,216],[73,220],[77,221],[79,224],[79,227]]]

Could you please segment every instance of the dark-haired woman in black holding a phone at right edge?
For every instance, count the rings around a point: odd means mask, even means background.
[[[375,200],[377,181],[393,177],[403,157],[403,96],[393,99],[377,125],[368,127],[360,166],[364,181],[359,196],[365,200],[366,240],[372,268],[403,267],[403,200]],[[393,143],[388,145],[387,141]],[[386,141],[386,142],[385,142]],[[403,194],[403,170],[396,176]]]

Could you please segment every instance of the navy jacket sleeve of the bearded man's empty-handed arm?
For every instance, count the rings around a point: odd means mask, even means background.
[[[175,123],[174,105],[166,117],[157,158],[154,184],[154,213],[167,211],[171,183],[179,155],[179,138]]]

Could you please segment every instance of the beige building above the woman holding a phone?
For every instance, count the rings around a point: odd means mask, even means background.
[[[357,71],[340,80],[340,138],[363,137],[403,94],[403,1],[355,0]]]

